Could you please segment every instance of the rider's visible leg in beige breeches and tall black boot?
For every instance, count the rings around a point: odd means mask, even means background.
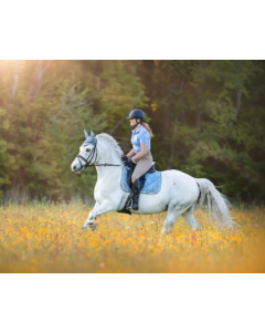
[[[140,198],[140,181],[139,178],[146,174],[152,165],[152,156],[150,153],[141,158],[131,175],[131,183],[132,183],[132,195],[131,199],[127,206],[128,209],[138,210],[139,209],[139,198]]]

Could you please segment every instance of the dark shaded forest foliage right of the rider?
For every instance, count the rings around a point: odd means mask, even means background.
[[[149,96],[161,101],[152,123],[162,134],[155,148],[162,151],[162,168],[168,163],[210,178],[229,196],[264,199],[264,61],[161,61],[153,76]]]

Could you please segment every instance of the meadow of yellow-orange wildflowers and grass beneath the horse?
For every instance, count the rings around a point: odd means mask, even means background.
[[[110,212],[82,230],[89,208],[32,203],[0,207],[0,272],[265,272],[265,208],[231,210],[239,230],[221,231],[197,210],[202,231],[180,217],[160,237],[165,214]]]

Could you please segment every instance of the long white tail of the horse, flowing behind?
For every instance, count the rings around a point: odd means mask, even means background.
[[[214,216],[218,225],[223,228],[231,228],[233,225],[237,225],[232,221],[230,217],[230,203],[229,199],[222,195],[214,185],[205,178],[197,178],[197,184],[200,188],[200,196],[198,199],[199,207],[206,204],[209,209],[209,218],[212,220]]]

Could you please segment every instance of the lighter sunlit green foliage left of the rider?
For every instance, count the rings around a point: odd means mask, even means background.
[[[84,128],[108,131],[144,90],[126,61],[105,61],[98,76],[94,62],[83,64],[86,75],[75,61],[53,62],[46,73],[47,64],[21,61],[15,68],[0,62],[0,105],[6,107],[0,108],[0,195],[13,188],[39,198],[93,195],[96,170],[74,175],[70,168],[85,139]],[[138,105],[146,100],[142,95]]]

